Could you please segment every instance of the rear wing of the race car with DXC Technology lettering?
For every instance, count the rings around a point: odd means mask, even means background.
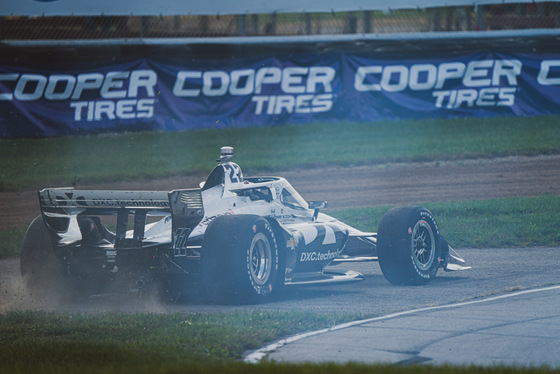
[[[114,248],[137,248],[154,242],[173,242],[183,251],[186,236],[202,218],[204,209],[200,189],[161,191],[104,191],[49,188],[39,191],[43,220],[54,244],[58,247],[85,243],[80,223],[93,219],[101,238]],[[116,216],[108,230],[99,216]],[[147,225],[148,216],[168,216],[158,223]],[[171,216],[171,217],[169,217]],[[133,222],[130,222],[132,218]],[[171,221],[172,227],[167,227]],[[159,225],[159,227],[154,227]],[[169,224],[171,226],[171,224]],[[148,233],[149,230],[152,230]],[[171,232],[172,229],[172,232]]]

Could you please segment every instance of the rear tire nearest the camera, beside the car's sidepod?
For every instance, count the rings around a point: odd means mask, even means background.
[[[220,216],[204,234],[202,286],[211,302],[260,303],[276,288],[278,262],[278,242],[265,218]]]

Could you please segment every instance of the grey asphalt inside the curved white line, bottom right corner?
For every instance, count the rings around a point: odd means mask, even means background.
[[[558,305],[560,286],[425,307],[293,336],[245,361],[560,367]]]

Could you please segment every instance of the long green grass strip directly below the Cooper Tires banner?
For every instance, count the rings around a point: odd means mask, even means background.
[[[560,153],[560,117],[329,123],[0,139],[0,191],[208,173],[219,148],[245,171]]]

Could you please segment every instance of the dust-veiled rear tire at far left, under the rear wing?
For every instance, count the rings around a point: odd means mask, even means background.
[[[69,296],[62,262],[54,253],[43,218],[29,225],[21,248],[20,271],[27,292],[41,301],[61,301]]]

